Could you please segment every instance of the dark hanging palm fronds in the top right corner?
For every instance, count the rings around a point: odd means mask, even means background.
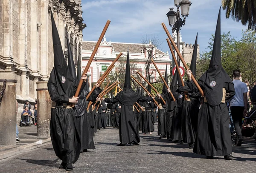
[[[256,31],[256,0],[222,0],[222,8],[226,10],[226,18],[230,15],[242,25],[248,24],[248,30]]]

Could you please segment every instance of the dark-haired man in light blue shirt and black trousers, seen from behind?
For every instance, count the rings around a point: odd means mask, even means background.
[[[236,91],[235,96],[230,102],[230,110],[231,110],[231,115],[233,118],[233,122],[235,125],[236,129],[236,134],[239,139],[236,144],[237,146],[241,146],[243,141],[242,138],[242,133],[241,133],[241,128],[242,128],[242,120],[243,116],[247,113],[247,85],[244,82],[241,82],[240,78],[240,71],[239,70],[234,70],[233,71],[233,83],[234,83],[234,88]]]

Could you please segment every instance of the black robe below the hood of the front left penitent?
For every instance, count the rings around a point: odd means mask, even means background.
[[[63,106],[68,103],[67,94],[60,95],[53,83],[48,83],[48,91],[56,106],[51,109],[50,136],[56,156],[64,163],[75,163],[80,155],[80,136],[73,108]]]

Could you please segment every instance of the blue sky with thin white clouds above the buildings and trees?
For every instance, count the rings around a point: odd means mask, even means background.
[[[221,0],[190,1],[192,5],[186,24],[181,28],[181,37],[182,41],[193,44],[198,32],[198,44],[202,52],[207,50],[209,38],[215,33]],[[158,48],[166,52],[169,50],[167,36],[160,24],[164,22],[171,32],[166,16],[171,7],[175,7],[174,0],[82,0],[82,15],[87,25],[83,30],[83,38],[97,41],[109,19],[111,24],[106,32],[107,41],[141,43],[142,37],[153,34],[163,41]],[[221,11],[221,33],[230,31],[232,36],[239,39],[242,29],[246,28],[231,17],[226,19],[225,11]]]

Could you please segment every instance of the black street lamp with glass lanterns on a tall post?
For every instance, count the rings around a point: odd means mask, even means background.
[[[180,51],[180,28],[185,25],[186,17],[189,15],[189,9],[192,3],[189,0],[174,0],[174,4],[177,7],[177,12],[173,11],[173,8],[170,8],[170,11],[166,15],[169,20],[169,26],[172,27],[172,33],[177,33],[177,48]],[[180,18],[180,14],[183,19]],[[178,60],[179,57],[177,56]],[[174,62],[172,61],[172,68],[174,66]]]

